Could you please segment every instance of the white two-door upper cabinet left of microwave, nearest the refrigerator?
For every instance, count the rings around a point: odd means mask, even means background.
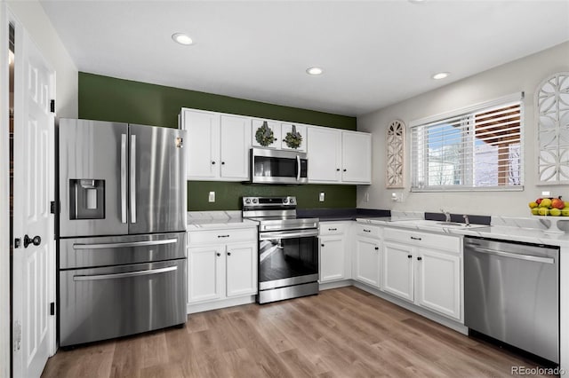
[[[182,108],[180,128],[188,130],[188,179],[249,179],[251,118]]]

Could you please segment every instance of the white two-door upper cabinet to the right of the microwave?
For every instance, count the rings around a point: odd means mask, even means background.
[[[309,182],[372,183],[372,135],[309,126]]]

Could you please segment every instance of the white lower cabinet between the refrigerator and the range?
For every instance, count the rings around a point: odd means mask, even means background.
[[[257,294],[256,228],[188,232],[188,303]]]

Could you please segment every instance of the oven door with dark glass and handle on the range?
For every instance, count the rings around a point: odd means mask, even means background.
[[[318,231],[260,232],[259,289],[318,280]]]

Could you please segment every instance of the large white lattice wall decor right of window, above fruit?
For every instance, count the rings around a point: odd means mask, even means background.
[[[535,114],[540,184],[569,184],[569,72],[541,82]]]

